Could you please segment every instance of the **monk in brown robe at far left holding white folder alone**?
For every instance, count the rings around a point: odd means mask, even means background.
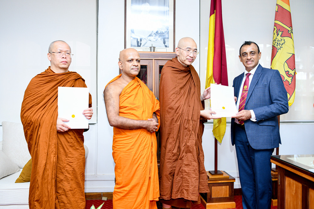
[[[58,86],[86,87],[84,79],[68,71],[71,48],[64,41],[49,46],[51,66],[26,88],[21,121],[32,157],[29,206],[43,209],[85,208],[84,129],[71,129],[58,118]],[[91,95],[83,115],[93,115]]]

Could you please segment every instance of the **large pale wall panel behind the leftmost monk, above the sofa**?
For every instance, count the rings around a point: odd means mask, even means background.
[[[0,123],[20,122],[24,91],[50,65],[48,47],[55,40],[70,45],[69,71],[85,79],[96,104],[95,0],[0,0],[0,29]]]

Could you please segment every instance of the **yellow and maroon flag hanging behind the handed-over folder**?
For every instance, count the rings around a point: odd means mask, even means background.
[[[206,88],[211,83],[228,86],[224,28],[221,0],[211,0],[207,51]],[[214,119],[214,137],[221,143],[226,132],[226,118]]]

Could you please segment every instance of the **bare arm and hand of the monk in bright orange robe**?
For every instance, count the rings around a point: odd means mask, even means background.
[[[119,102],[122,89],[115,83],[109,84],[104,91],[107,117],[111,126],[123,129],[144,128],[150,133],[157,130],[158,123],[150,120],[133,120],[119,116]],[[157,117],[156,117],[157,118]]]

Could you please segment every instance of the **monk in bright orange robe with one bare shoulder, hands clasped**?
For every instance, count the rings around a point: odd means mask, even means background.
[[[159,183],[155,131],[159,128],[159,102],[136,77],[140,71],[137,50],[122,50],[118,65],[122,74],[112,79],[104,91],[116,163],[113,208],[156,209]]]

